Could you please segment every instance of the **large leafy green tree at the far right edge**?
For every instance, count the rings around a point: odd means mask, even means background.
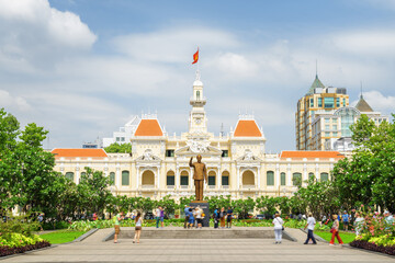
[[[341,206],[356,207],[362,203],[394,210],[394,119],[376,126],[368,116],[361,115],[350,128],[357,148],[352,157],[340,160],[334,168]]]

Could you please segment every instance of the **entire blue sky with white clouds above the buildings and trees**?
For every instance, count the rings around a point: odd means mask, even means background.
[[[200,46],[208,129],[252,113],[271,152],[318,75],[374,110],[395,105],[395,1],[0,0],[0,106],[50,132],[45,147],[110,136],[142,111],[188,128]]]

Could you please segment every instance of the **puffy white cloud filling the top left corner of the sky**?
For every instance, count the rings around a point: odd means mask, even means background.
[[[48,0],[0,0],[2,60],[45,65],[87,50],[95,39],[77,14],[50,8]]]

